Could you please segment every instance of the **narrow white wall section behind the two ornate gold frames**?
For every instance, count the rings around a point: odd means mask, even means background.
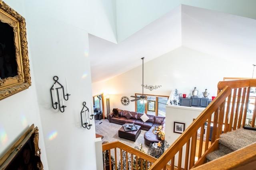
[[[26,18],[23,0],[5,0],[5,2]],[[29,39],[28,43],[30,43]],[[32,60],[30,53],[29,59],[30,61]],[[30,62],[30,73],[32,86],[27,90],[0,101],[0,157],[34,123],[39,129],[39,148],[42,152],[41,160],[44,170],[48,170],[43,128],[36,95],[35,72],[32,62]]]

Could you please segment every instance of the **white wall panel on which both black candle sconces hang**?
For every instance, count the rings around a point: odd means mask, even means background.
[[[48,166],[51,170],[94,170],[94,121],[91,121],[92,128],[87,130],[81,127],[80,120],[82,102],[87,102],[89,108],[92,102],[88,33],[73,23],[62,21],[63,16],[57,15],[55,8],[48,5],[47,1],[40,1],[40,6],[32,0],[26,1],[30,57],[36,75],[34,84]],[[68,13],[75,14],[76,10],[69,8]],[[46,11],[48,14],[44,15]],[[82,21],[83,15],[86,11],[80,11],[76,20]],[[64,113],[51,105],[49,89],[54,83],[53,76],[58,76],[64,86],[65,77],[68,78],[71,96],[65,101]],[[52,134],[55,137],[51,137]]]

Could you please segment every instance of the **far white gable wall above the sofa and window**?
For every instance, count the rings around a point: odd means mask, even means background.
[[[210,96],[216,96],[217,84],[223,77],[250,77],[250,61],[228,61],[186,47],[170,51],[156,59],[144,63],[144,84],[162,85],[157,90],[144,89],[145,94],[169,96],[175,88],[180,93],[191,94],[196,86],[199,95],[205,88]],[[239,69],[238,69],[239,68]],[[135,104],[120,103],[122,96],[142,93],[142,66],[104,82],[92,84],[93,95],[105,93],[110,96],[110,107],[134,111]],[[209,96],[209,97],[210,97]],[[132,99],[132,98],[130,98]]]

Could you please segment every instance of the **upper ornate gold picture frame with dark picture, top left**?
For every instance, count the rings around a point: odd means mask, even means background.
[[[28,43],[26,37],[25,19],[12,8],[10,8],[10,6],[0,0],[0,24],[13,29],[13,35],[10,36],[10,38],[6,37],[6,41],[9,42],[9,49],[8,45],[0,42],[0,68],[2,68],[2,73],[4,72],[4,68],[7,70],[6,72],[10,72],[10,70],[14,72],[14,74],[4,74],[5,76],[2,76],[2,78],[0,76],[0,100],[2,100],[31,86],[31,78],[28,60]],[[1,34],[5,35],[2,30]],[[10,50],[10,42],[12,41],[13,50]],[[4,56],[5,48],[8,49],[6,51],[8,51],[9,56],[13,56],[14,58],[14,62],[9,64],[12,67],[9,66],[7,69],[6,63],[8,62],[4,62],[4,59],[9,59],[11,57],[9,57],[8,54]],[[10,55],[10,53],[12,54]],[[10,61],[10,59],[6,61]]]

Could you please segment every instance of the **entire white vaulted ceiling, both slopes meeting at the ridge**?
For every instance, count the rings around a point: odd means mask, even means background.
[[[141,57],[147,62],[182,45],[220,62],[221,57],[255,61],[255,30],[254,19],[182,5],[118,44],[90,35],[92,82],[140,65]]]

